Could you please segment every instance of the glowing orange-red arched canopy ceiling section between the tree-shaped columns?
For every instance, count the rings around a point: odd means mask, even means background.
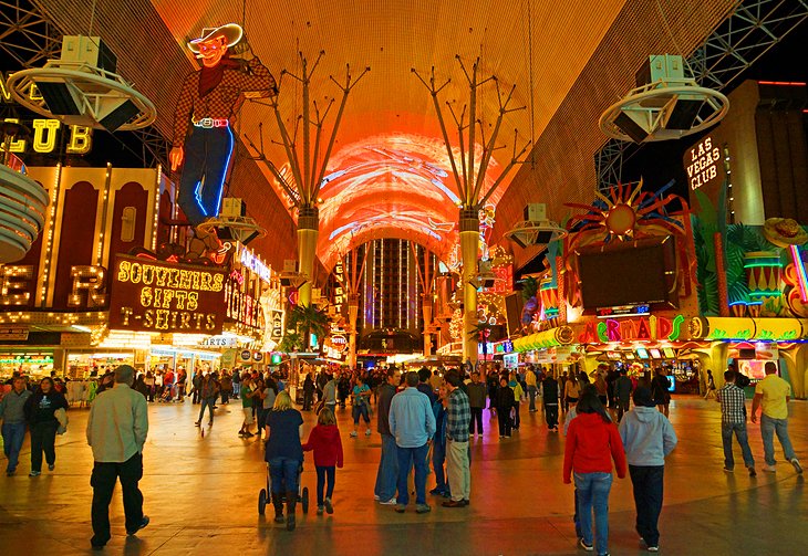
[[[330,167],[320,196],[318,244],[327,267],[338,254],[374,238],[412,239],[439,256],[456,242],[459,198],[441,139],[370,137],[341,148]],[[484,191],[500,171],[493,162]],[[493,203],[499,197],[491,196]]]

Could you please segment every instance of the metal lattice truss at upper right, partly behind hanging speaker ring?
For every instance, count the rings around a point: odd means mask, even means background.
[[[722,91],[808,19],[808,0],[742,0],[705,41],[687,66],[696,82]],[[609,139],[594,155],[598,189],[620,181],[622,165],[642,145]]]

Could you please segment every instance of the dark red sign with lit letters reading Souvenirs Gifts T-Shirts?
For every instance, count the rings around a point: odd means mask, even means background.
[[[118,255],[112,273],[110,328],[221,333],[224,271]]]

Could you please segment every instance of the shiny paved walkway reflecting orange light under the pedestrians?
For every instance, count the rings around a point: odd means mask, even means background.
[[[373,502],[380,454],[375,432],[351,439],[350,409],[339,412],[345,466],[338,470],[333,516],[314,514],[315,476],[310,457],[303,484],[312,491],[308,516],[288,533],[257,513],[265,480],[261,444],[236,432],[241,412],[222,406],[213,429],[194,427],[198,406],[153,405],[141,487],[152,524],[126,537],[120,490],[113,500],[113,538],[106,554],[126,555],[526,555],[577,554],[572,489],[561,482],[563,440],[548,433],[540,413],[522,406],[522,427],[499,441],[496,421],[473,440],[472,506],[396,514]],[[70,430],[56,445],[56,469],[30,479],[24,447],[18,475],[0,476],[0,554],[87,554],[92,454],[84,440],[85,410],[70,412]],[[808,502],[804,479],[781,462],[776,474],[749,479],[743,468],[722,471],[721,415],[713,401],[680,398],[671,409],[680,437],[665,471],[661,552],[675,555],[806,554]],[[307,415],[308,429],[313,416]],[[486,421],[488,411],[486,411]],[[375,424],[373,426],[375,431]],[[791,439],[808,463],[808,405],[791,403]],[[757,427],[753,452],[763,466]],[[778,458],[781,452],[778,447]],[[739,459],[739,452],[736,459]],[[3,464],[4,465],[4,464]],[[429,478],[427,487],[434,485]],[[633,531],[630,480],[610,499],[613,555],[645,554]]]

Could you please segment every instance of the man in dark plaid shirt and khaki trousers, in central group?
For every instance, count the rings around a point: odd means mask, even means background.
[[[468,461],[468,426],[472,409],[468,396],[460,389],[460,376],[453,369],[444,377],[449,403],[446,410],[446,471],[452,500],[444,507],[465,507],[472,494],[472,470]]]

